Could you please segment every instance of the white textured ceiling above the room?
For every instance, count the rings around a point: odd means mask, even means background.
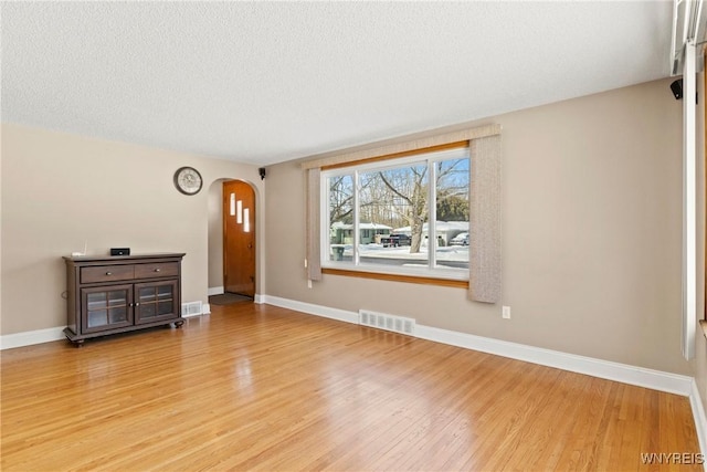
[[[669,75],[671,1],[3,2],[1,15],[3,122],[258,165]]]

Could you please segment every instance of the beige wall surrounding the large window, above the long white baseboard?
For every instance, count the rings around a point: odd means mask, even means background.
[[[503,125],[510,321],[502,304],[468,302],[461,289],[335,275],[307,289],[303,172],[294,162],[268,169],[267,294],[693,375],[680,355],[682,102],[668,84],[483,122]]]

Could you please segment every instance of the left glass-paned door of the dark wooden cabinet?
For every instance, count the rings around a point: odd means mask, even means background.
[[[84,333],[133,325],[131,285],[82,289],[81,301]]]

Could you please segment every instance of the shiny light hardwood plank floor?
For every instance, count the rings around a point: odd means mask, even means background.
[[[212,310],[2,352],[1,469],[619,471],[698,452],[684,397],[267,305]]]

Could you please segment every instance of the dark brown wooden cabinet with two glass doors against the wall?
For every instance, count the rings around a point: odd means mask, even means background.
[[[181,327],[182,253],[76,256],[66,263],[66,328],[85,339],[173,323]]]

